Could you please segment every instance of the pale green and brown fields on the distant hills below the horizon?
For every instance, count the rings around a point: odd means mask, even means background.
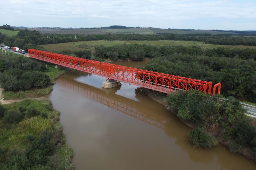
[[[173,33],[173,34],[229,34],[229,32],[218,32],[211,30],[192,30],[192,31],[182,31],[182,30],[168,30],[160,28],[129,28],[129,29],[73,29],[73,30],[60,30],[60,29],[42,29],[42,28],[29,28],[28,30],[36,30],[40,33],[50,33],[50,34],[156,34],[156,33]],[[231,33],[230,33],[231,34]],[[235,34],[235,33],[232,33]]]

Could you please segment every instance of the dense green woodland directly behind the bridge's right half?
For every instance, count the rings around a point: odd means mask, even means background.
[[[172,54],[150,60],[144,69],[213,84],[222,82],[224,96],[256,102],[256,62],[252,60]]]

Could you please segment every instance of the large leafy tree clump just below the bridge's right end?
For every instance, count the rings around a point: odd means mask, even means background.
[[[197,126],[203,127],[214,122],[221,113],[218,99],[204,95],[200,91],[178,91],[168,95],[167,108],[178,110],[178,117],[193,121]]]

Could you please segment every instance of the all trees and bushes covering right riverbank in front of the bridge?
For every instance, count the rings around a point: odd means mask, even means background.
[[[221,98],[194,90],[178,91],[167,96],[166,107],[177,110],[179,118],[195,124],[190,132],[195,146],[212,147],[219,140],[231,151],[256,160],[255,120],[245,115],[246,110],[235,98]]]

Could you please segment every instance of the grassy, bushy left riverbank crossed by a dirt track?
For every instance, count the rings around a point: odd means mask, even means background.
[[[28,73],[29,77],[20,82],[34,81],[39,85],[37,88],[17,92],[0,88],[0,170],[73,170],[73,149],[65,143],[66,138],[59,121],[60,112],[53,109],[48,98],[43,97],[52,91],[55,80],[65,74],[66,69],[56,69],[50,64],[42,68],[46,65],[12,53],[2,57],[0,62],[2,78],[9,71],[11,81],[17,82]],[[34,67],[38,71],[33,72]],[[45,76],[33,78],[34,73]],[[16,75],[17,80],[12,77]],[[44,78],[48,86],[40,88],[39,83]]]

